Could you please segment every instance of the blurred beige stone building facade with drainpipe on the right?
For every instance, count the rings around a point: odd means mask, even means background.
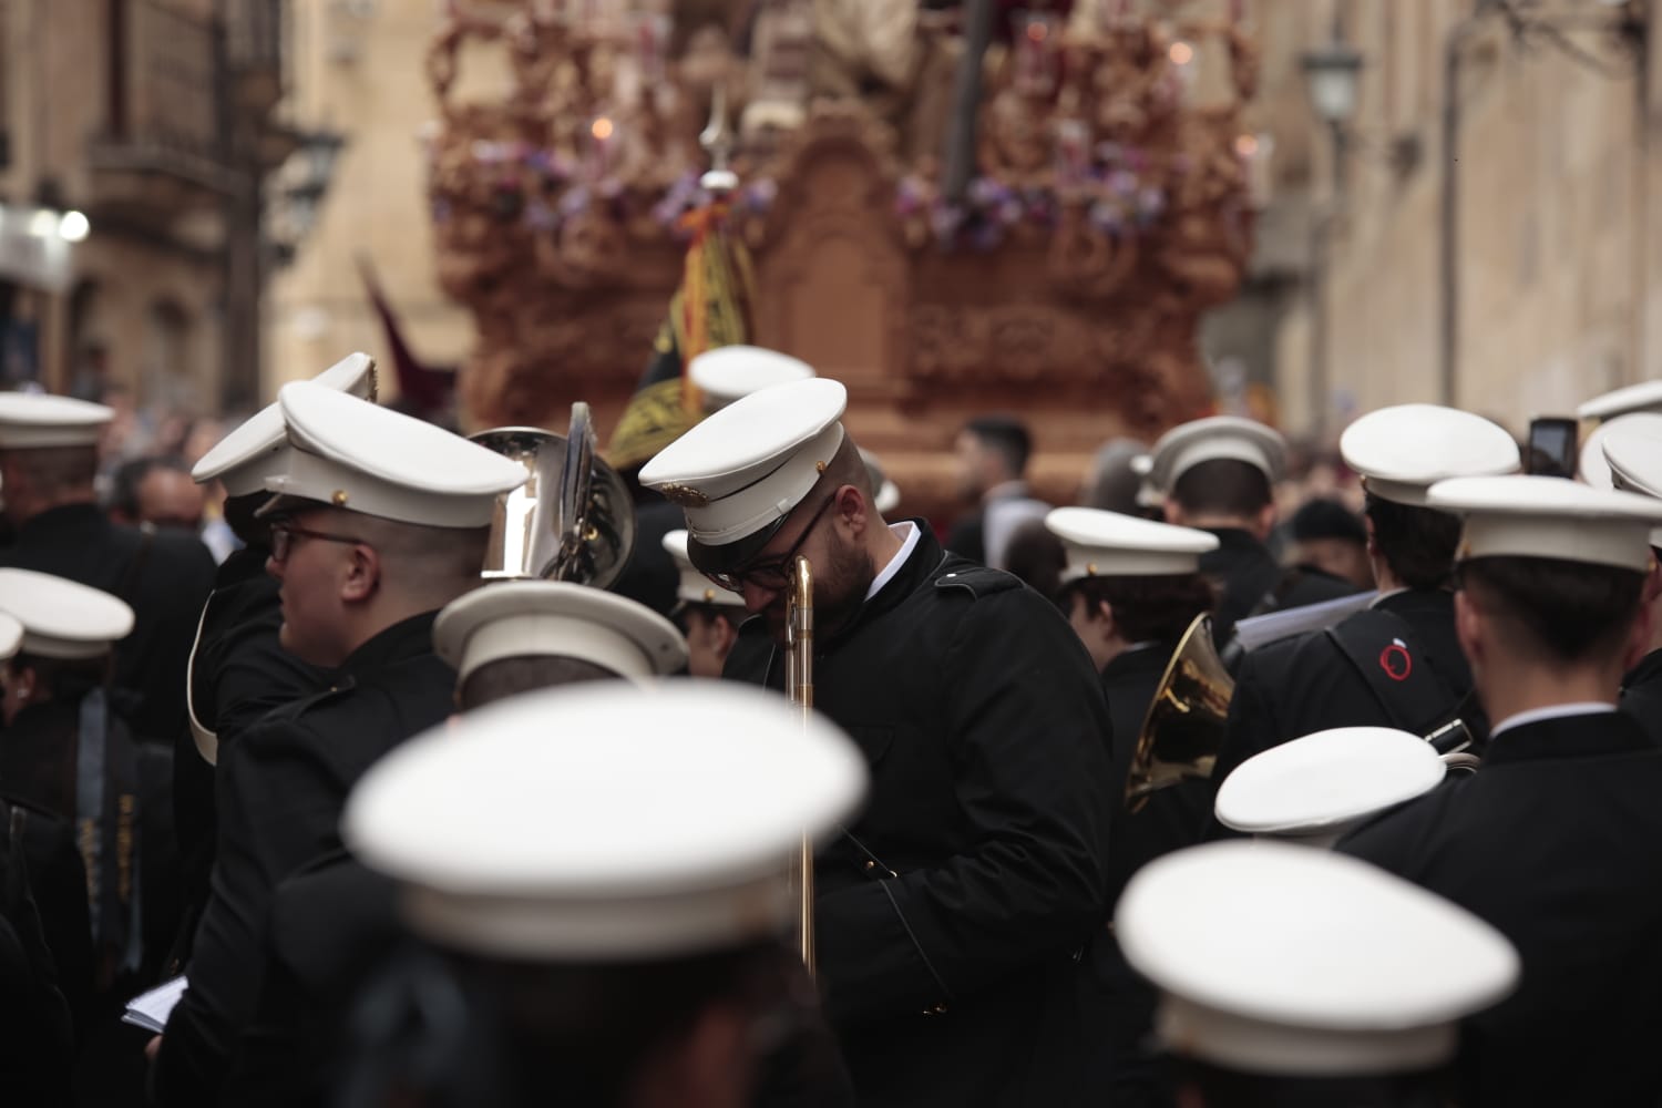
[[[1285,427],[1331,439],[1424,400],[1522,434],[1662,375],[1662,3],[1255,12],[1275,198],[1253,286],[1208,342],[1243,352]],[[1300,65],[1335,33],[1363,60],[1338,135]]]

